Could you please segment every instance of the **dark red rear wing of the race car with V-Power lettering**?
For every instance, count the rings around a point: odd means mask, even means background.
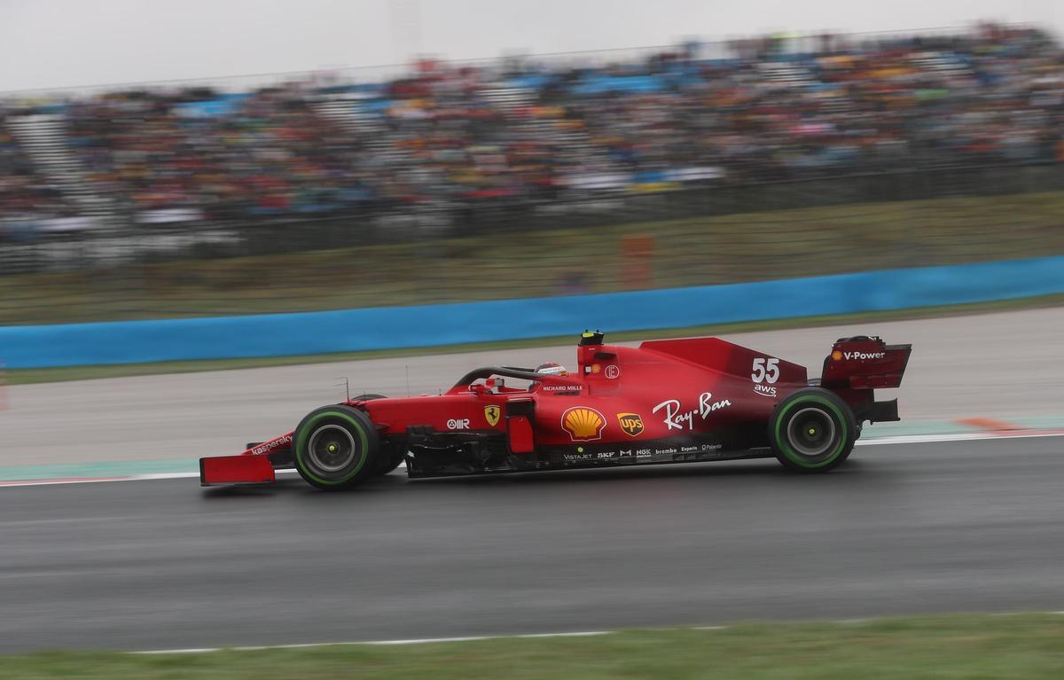
[[[849,389],[898,387],[912,345],[887,345],[879,337],[843,337],[824,360],[820,385]]]

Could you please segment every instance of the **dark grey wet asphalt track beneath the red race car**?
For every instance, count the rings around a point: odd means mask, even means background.
[[[0,652],[1064,610],[1064,438],[409,482],[0,490]]]

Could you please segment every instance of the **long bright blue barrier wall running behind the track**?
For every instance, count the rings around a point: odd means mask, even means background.
[[[283,356],[682,328],[1064,293],[1064,256],[604,295],[0,328],[9,368]]]

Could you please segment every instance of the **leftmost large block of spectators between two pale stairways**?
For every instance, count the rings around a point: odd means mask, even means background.
[[[228,100],[123,93],[71,104],[69,144],[134,213],[321,212],[367,197],[368,169],[358,135],[316,100],[299,84]]]

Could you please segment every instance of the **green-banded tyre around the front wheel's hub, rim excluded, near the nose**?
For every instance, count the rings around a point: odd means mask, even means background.
[[[334,472],[317,468],[307,451],[311,434],[325,425],[347,430],[354,441],[351,462]],[[296,469],[309,483],[326,490],[347,488],[372,475],[380,455],[380,439],[373,424],[361,411],[345,405],[321,407],[306,414],[296,427],[292,450]]]

